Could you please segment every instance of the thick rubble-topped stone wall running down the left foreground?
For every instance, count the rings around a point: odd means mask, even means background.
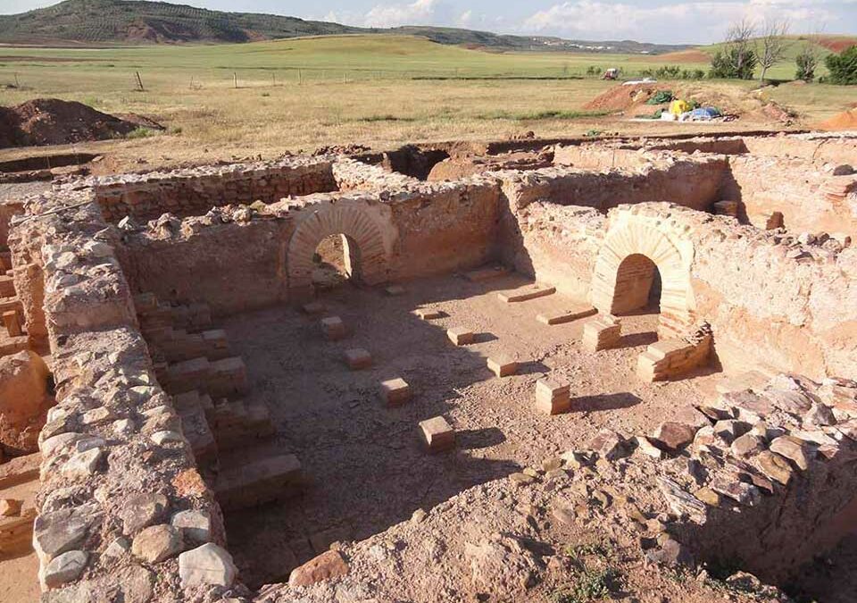
[[[68,205],[76,206],[51,213]],[[12,240],[38,247],[26,259],[40,262],[44,280],[57,401],[39,435],[33,543],[42,600],[175,601],[241,591],[220,547],[220,509],[155,380],[114,255],[118,241],[99,205],[57,193],[29,200],[27,215]],[[188,518],[199,530],[181,527]],[[209,568],[215,573],[201,574]]]

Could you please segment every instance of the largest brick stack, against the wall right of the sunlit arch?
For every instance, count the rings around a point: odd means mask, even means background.
[[[681,339],[656,341],[637,359],[637,376],[643,381],[674,379],[708,364],[711,325],[703,322]]]

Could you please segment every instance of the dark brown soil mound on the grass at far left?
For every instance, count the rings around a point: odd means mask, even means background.
[[[67,145],[118,138],[139,127],[163,129],[155,121],[134,118],[122,119],[73,101],[37,98],[15,107],[0,107],[0,148]]]

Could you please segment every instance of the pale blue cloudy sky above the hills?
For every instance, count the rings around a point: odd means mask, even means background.
[[[0,0],[0,13],[22,13],[51,4],[56,1]],[[661,44],[716,42],[729,22],[745,17],[760,23],[785,19],[795,33],[857,35],[857,0],[186,0],[180,4],[364,27],[436,25]]]

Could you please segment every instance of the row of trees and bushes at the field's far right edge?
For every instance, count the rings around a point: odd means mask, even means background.
[[[794,39],[788,38],[788,21],[765,21],[758,28],[753,21],[742,20],[732,24],[722,48],[711,57],[711,78],[752,80],[759,71],[764,81],[771,67],[786,59]],[[815,80],[821,62],[820,46],[804,40],[795,55],[795,78]],[[825,58],[834,84],[857,84],[857,46],[841,54],[828,54]]]

